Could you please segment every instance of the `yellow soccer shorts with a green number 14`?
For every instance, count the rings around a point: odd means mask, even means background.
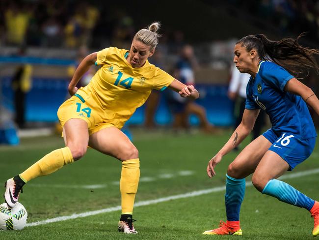
[[[70,119],[82,119],[87,122],[89,135],[103,128],[114,126],[111,122],[105,122],[102,116],[103,110],[85,101],[79,94],[75,94],[66,100],[57,110],[57,117],[63,128]]]

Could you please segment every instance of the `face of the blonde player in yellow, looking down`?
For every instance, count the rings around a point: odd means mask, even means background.
[[[143,66],[146,60],[155,53],[155,50],[150,51],[150,48],[150,46],[134,39],[128,57],[129,63],[133,67]]]

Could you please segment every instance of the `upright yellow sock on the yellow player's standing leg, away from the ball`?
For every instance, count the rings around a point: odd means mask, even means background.
[[[139,159],[122,162],[120,190],[122,196],[122,214],[133,214],[134,199],[139,181]]]

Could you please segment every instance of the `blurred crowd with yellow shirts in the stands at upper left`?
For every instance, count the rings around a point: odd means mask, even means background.
[[[1,0],[0,44],[71,49],[127,46],[140,28],[130,14],[134,13],[123,5],[107,2]],[[141,28],[148,24],[145,21]],[[181,41],[183,33],[177,30],[173,38]]]

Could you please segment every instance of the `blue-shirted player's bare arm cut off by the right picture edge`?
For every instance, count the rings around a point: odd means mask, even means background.
[[[297,79],[292,78],[287,82],[284,90],[301,96],[302,99],[319,115],[319,100],[311,88],[307,87]]]

